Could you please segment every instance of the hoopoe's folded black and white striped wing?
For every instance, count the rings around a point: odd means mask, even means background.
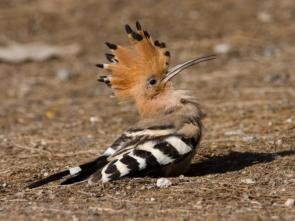
[[[178,131],[186,131],[185,127],[191,130],[194,126],[183,124]],[[110,156],[109,159],[112,161],[95,172],[88,183],[93,185],[120,177],[139,176],[180,163],[192,153],[199,143],[201,138],[199,130],[197,127],[194,127],[194,130],[193,133],[188,134],[197,136],[189,137],[169,128],[161,131],[145,129],[132,132],[130,134],[134,136],[132,136],[130,145]],[[129,132],[126,131],[125,136]]]

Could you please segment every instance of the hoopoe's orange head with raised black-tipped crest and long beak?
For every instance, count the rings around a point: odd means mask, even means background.
[[[136,32],[128,24],[125,29],[132,46],[122,47],[105,42],[114,54],[105,54],[110,64],[96,65],[110,73],[101,76],[98,81],[115,89],[112,97],[118,97],[121,104],[135,101],[142,115],[165,103],[165,99],[175,91],[171,82],[173,76],[191,65],[214,59],[207,58],[214,55],[197,57],[168,71],[170,52],[164,42],[153,42],[139,22],[136,22]]]

